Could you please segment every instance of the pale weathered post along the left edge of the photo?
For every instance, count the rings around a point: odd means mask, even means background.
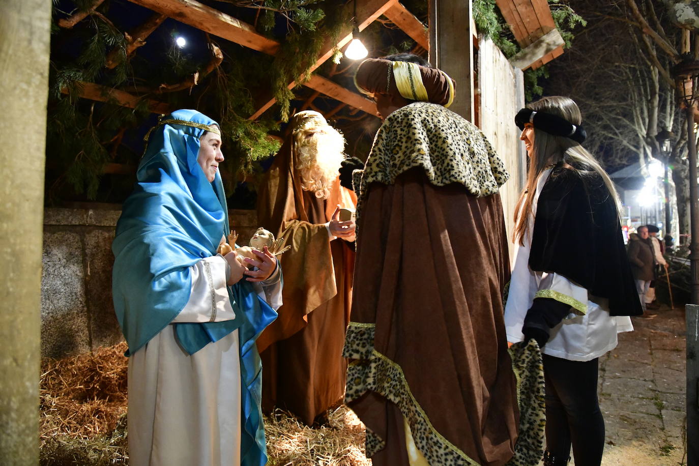
[[[0,1],[0,464],[38,464],[51,0]]]

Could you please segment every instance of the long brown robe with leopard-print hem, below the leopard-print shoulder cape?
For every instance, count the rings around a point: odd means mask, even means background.
[[[503,321],[499,194],[417,167],[362,194],[345,400],[373,465],[408,465],[403,418],[432,465],[504,465],[519,412]]]

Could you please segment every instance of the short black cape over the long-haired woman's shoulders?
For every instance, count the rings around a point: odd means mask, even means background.
[[[643,314],[614,199],[596,173],[554,167],[539,195],[529,267],[607,298],[612,316]]]

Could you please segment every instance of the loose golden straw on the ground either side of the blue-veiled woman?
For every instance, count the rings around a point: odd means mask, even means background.
[[[41,364],[42,466],[127,465],[126,343]],[[271,466],[370,466],[364,425],[346,406],[319,428],[277,410],[266,416]]]

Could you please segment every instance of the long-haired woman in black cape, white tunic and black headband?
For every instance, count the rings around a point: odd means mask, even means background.
[[[598,358],[633,330],[642,309],[621,234],[619,197],[582,142],[582,115],[567,97],[517,112],[526,146],[526,189],[515,212],[507,340],[536,340],[546,385],[545,466],[598,466],[605,423]],[[522,432],[520,432],[521,435]]]

